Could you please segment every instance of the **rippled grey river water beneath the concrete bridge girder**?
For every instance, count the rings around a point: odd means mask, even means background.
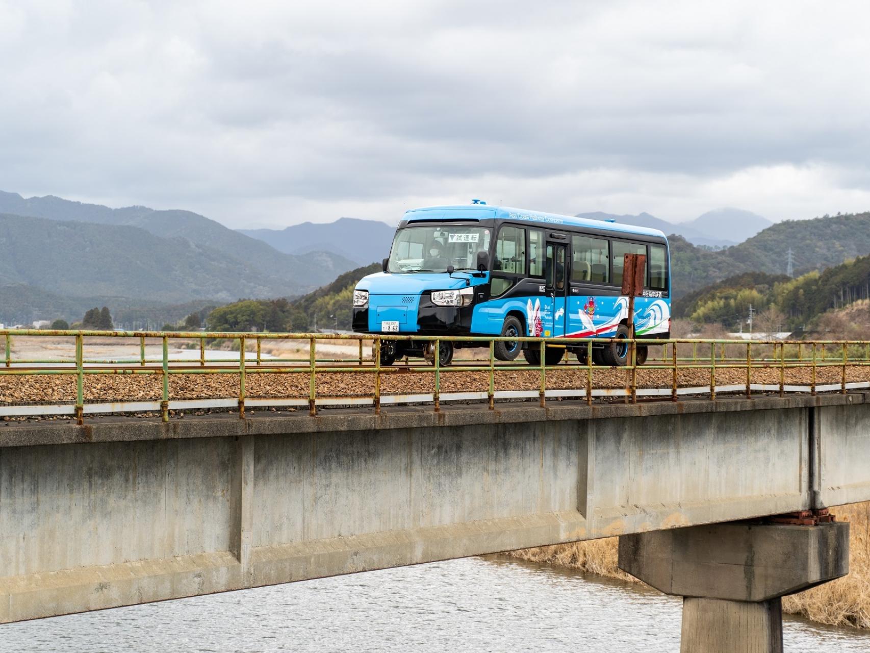
[[[502,556],[433,562],[0,626],[0,650],[679,651],[679,599]],[[788,651],[870,651],[870,635],[787,619]]]

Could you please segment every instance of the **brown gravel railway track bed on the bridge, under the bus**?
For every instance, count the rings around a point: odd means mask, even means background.
[[[0,333],[0,338],[4,333]],[[317,345],[335,336],[296,334],[118,334],[141,341],[136,358],[88,358],[86,340],[106,333],[66,333],[76,341],[71,360],[25,359],[11,354],[7,333],[5,365],[0,365],[0,417],[144,413],[171,410],[252,407],[372,406],[396,403],[481,401],[493,407],[505,400],[676,401],[690,395],[847,392],[870,387],[867,342],[782,343],[733,340],[656,342],[657,353],[636,367],[586,366],[570,357],[559,365],[534,367],[480,356],[454,360],[450,367],[405,361],[385,367],[371,362],[357,338],[355,358],[320,359]],[[43,337],[39,332],[27,337]],[[236,339],[239,349],[253,351],[244,360],[208,360],[205,342],[220,336]],[[108,336],[111,337],[111,336]],[[145,356],[145,340],[159,339],[162,360]],[[171,360],[168,343],[185,338],[200,345],[200,358]],[[261,353],[273,340],[302,340],[306,359],[268,357]],[[101,340],[101,341],[103,341]],[[348,340],[344,337],[344,340]],[[484,340],[484,339],[481,339]],[[539,339],[529,346],[539,347]],[[492,352],[493,339],[485,340]],[[639,340],[639,343],[642,343]],[[576,345],[576,341],[572,342]],[[676,347],[676,349],[675,349]],[[468,351],[468,350],[460,350]],[[483,352],[485,354],[485,350]],[[256,358],[253,356],[256,354]]]

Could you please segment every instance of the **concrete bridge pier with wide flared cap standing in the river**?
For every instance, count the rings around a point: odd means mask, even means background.
[[[782,596],[847,575],[849,525],[726,522],[621,535],[619,568],[684,597],[682,653],[781,653]]]

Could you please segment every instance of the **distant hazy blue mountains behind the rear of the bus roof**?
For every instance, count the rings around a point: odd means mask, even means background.
[[[578,213],[578,218],[592,220],[616,220],[626,225],[646,226],[659,229],[666,235],[676,233],[693,245],[726,247],[737,245],[756,233],[773,225],[770,220],[743,209],[721,208],[708,211],[688,222],[668,222],[643,212],[638,215],[615,215],[600,211]]]

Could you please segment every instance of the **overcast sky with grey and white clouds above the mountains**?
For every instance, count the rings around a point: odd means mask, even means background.
[[[227,226],[870,210],[867,2],[0,0],[0,189]]]

